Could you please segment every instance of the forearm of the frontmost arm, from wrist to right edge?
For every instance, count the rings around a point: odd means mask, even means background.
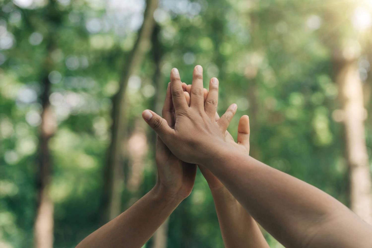
[[[229,148],[221,149],[203,165],[285,246],[371,245],[368,243],[371,242],[371,227],[310,184]],[[356,238],[350,238],[350,233]]]

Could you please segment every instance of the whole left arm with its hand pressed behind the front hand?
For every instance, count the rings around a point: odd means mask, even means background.
[[[163,117],[167,126],[174,126],[170,86]],[[195,181],[196,165],[180,161],[159,138],[155,156],[158,169],[155,187],[124,213],[87,236],[77,245],[78,248],[140,248],[179,203],[189,196]]]

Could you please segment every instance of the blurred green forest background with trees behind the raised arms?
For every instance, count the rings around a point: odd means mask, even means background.
[[[74,247],[150,190],[171,68],[251,155],[372,223],[371,0],[0,0],[0,247]],[[233,227],[232,227],[233,228]],[[264,233],[271,247],[282,247]],[[223,247],[208,185],[145,245]]]

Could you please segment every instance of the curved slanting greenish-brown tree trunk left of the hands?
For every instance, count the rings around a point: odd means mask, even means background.
[[[113,219],[121,213],[121,195],[123,190],[123,143],[127,137],[126,120],[126,87],[129,77],[141,64],[147,51],[149,38],[154,26],[154,11],[157,8],[158,0],[147,0],[144,13],[144,21],[138,32],[138,38],[129,56],[126,66],[123,68],[119,81],[119,91],[113,97],[111,144],[108,149],[108,159],[105,171],[104,185],[104,207],[103,213],[108,214],[108,219]]]

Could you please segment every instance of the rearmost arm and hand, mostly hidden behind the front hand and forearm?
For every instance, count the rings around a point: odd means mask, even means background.
[[[217,80],[212,78],[211,80]],[[217,80],[218,84],[218,80]],[[182,88],[185,90],[185,85],[182,83]],[[190,106],[191,85],[186,86],[186,102]],[[204,103],[208,96],[208,90],[203,89]],[[218,99],[216,99],[217,101]],[[219,120],[216,112],[215,120]],[[249,117],[244,115],[240,118],[238,124],[238,143],[241,146],[242,152],[249,154]],[[225,140],[233,142],[234,138],[229,132],[225,132]],[[262,232],[256,221],[247,212],[246,209],[235,199],[234,196],[226,189],[224,184],[208,170],[208,168],[198,166],[203,176],[205,177],[209,189],[211,190],[214,200],[219,227],[221,229],[222,239],[226,248],[234,247],[257,247],[269,248]]]

